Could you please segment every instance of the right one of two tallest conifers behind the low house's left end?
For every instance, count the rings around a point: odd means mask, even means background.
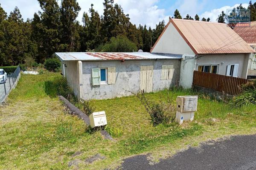
[[[80,48],[76,22],[80,10],[76,0],[61,1],[61,51],[78,51]]]

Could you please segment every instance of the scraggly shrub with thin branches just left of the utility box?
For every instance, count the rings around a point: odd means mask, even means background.
[[[172,100],[169,98],[166,102],[152,102],[145,97],[144,93],[139,93],[136,95],[140,102],[144,105],[146,111],[151,117],[151,123],[156,126],[160,123],[169,124],[175,120],[175,105],[172,104]]]

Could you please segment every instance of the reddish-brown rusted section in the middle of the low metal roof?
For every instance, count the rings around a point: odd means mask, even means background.
[[[85,53],[93,57],[98,57],[100,59],[107,60],[125,60],[125,59],[144,59],[143,57],[138,57],[130,54],[124,53]]]

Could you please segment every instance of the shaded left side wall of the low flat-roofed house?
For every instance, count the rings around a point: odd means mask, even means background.
[[[65,61],[65,62],[62,62],[62,63],[67,65],[67,67],[64,68],[65,77],[67,78],[67,83],[70,86],[70,88],[73,89],[74,94],[77,97],[79,97],[78,61]],[[63,72],[63,66],[62,66],[62,72]]]

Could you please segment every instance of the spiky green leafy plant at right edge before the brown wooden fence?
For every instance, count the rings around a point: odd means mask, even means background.
[[[234,107],[256,104],[256,80],[241,85],[241,91],[231,102]]]

